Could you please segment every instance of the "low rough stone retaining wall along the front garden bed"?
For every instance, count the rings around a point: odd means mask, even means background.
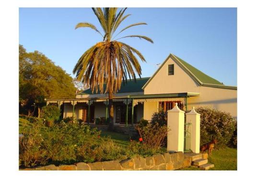
[[[20,170],[177,170],[189,166],[191,166],[191,159],[185,158],[183,152],[176,152],[157,154],[146,158],[135,157],[121,161],[79,162],[74,165],[48,165]]]

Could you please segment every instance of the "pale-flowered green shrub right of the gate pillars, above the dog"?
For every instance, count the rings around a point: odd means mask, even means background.
[[[235,130],[235,119],[226,112],[213,108],[199,107],[196,111],[200,116],[200,145],[217,139],[216,148],[228,145]]]

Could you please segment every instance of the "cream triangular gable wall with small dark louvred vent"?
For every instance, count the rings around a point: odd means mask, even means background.
[[[174,64],[174,75],[168,75],[168,64]],[[199,93],[199,86],[169,58],[144,88],[144,94]]]

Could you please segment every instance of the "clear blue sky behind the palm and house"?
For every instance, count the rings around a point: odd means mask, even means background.
[[[225,85],[237,85],[236,8],[128,8],[126,12],[132,15],[120,30],[135,22],[148,25],[132,27],[119,36],[140,34],[154,41],[122,40],[144,55],[142,77],[151,76],[156,64],[174,53]],[[19,43],[28,52],[44,53],[74,77],[72,70],[81,54],[102,41],[89,28],[74,29],[84,21],[100,28],[90,8],[20,8]]]

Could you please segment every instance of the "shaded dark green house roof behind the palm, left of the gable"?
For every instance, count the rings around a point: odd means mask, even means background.
[[[122,83],[121,89],[117,93],[128,93],[128,92],[143,92],[142,89],[143,85],[146,84],[146,82],[150,79],[150,77],[144,77],[144,78],[136,78],[136,81],[134,79],[127,80],[127,83]],[[104,85],[105,90],[105,85]],[[92,92],[91,88],[84,90],[80,92],[77,95],[84,95],[84,94],[100,94],[96,92]]]

